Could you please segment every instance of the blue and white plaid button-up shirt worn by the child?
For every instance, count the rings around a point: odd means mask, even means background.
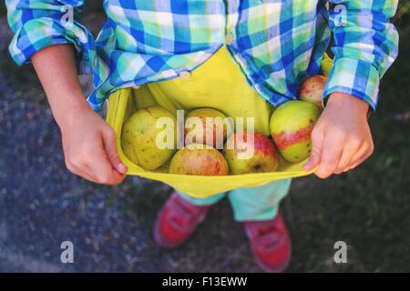
[[[118,88],[194,70],[221,45],[254,90],[281,105],[320,72],[331,32],[324,96],[348,93],[374,109],[380,78],[397,55],[394,0],[108,0],[96,40],[79,22],[83,2],[6,0],[10,52],[21,65],[47,45],[73,44],[81,71],[94,76],[88,102],[95,110]]]

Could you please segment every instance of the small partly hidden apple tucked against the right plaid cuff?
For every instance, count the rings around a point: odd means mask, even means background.
[[[322,109],[322,98],[327,77],[324,75],[313,75],[306,79],[301,86],[299,97],[301,100],[312,103]]]

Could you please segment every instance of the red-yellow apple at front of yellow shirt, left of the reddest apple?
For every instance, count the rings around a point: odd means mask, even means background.
[[[220,152],[207,145],[191,144],[180,149],[171,159],[170,174],[225,176],[229,169]]]

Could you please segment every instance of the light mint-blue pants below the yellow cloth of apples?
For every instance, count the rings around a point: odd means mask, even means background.
[[[273,181],[265,186],[238,188],[232,190],[228,197],[236,221],[270,220],[276,216],[279,202],[289,192],[292,179]],[[200,199],[187,196],[177,191],[179,196],[197,206],[210,206],[222,199],[225,193]]]

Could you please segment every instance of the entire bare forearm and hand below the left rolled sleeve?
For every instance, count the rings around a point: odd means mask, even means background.
[[[81,92],[73,46],[47,46],[31,60],[63,135],[67,168],[92,182],[121,183],[127,168],[119,160],[116,135]]]

